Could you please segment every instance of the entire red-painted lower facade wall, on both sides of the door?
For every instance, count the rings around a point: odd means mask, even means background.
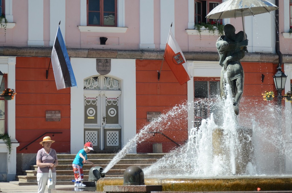
[[[70,88],[57,91],[50,58],[44,57],[17,57],[16,58],[16,139],[20,143],[17,153],[36,153],[42,146],[42,136],[37,141],[23,149],[45,132],[62,132],[62,134],[46,134],[56,142],[52,145],[58,153],[70,152]],[[136,60],[136,109],[137,133],[149,124],[147,112],[161,112],[165,114],[173,106],[187,101],[187,84],[180,85],[173,72],[164,62],[160,80],[157,71],[160,71],[161,60]],[[242,62],[245,73],[244,94],[240,103],[240,113],[253,110],[248,108],[250,103],[254,107],[263,106],[261,93],[265,90],[275,90],[272,76],[277,71],[277,64]],[[265,75],[264,82],[261,74]],[[196,77],[197,78],[197,77]],[[275,92],[277,95],[277,92]],[[284,91],[282,92],[284,95]],[[277,104],[277,100],[271,101]],[[283,100],[284,105],[284,100]],[[46,110],[60,110],[60,122],[46,122]],[[176,143],[182,145],[187,141],[187,113],[171,116],[162,125],[163,134]],[[157,129],[157,128],[155,128]],[[156,131],[156,130],[149,131]],[[152,134],[147,140],[137,144],[137,152],[152,152],[153,143],[162,143],[163,152],[169,152],[177,145],[161,134]]]

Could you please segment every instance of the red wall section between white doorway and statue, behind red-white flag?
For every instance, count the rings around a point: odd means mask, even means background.
[[[137,133],[149,124],[147,112],[166,113],[177,104],[187,101],[187,83],[180,85],[173,72],[164,62],[160,80],[157,71],[160,71],[161,60],[136,60],[136,109],[137,109]],[[168,124],[163,134],[176,143],[182,145],[187,140],[187,114],[170,117],[164,124]],[[160,126],[159,126],[160,127]],[[151,128],[149,131],[152,130]],[[178,147],[175,143],[161,134],[150,137],[137,144],[137,152],[150,153],[153,151],[153,143],[162,143],[163,152]]]

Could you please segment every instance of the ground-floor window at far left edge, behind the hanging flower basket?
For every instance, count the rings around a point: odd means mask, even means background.
[[[1,90],[7,87],[7,74],[4,74],[3,80],[1,83]],[[0,134],[7,134],[7,101],[4,100],[4,97],[0,97]]]

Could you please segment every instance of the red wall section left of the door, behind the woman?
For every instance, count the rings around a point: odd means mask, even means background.
[[[44,136],[50,136],[55,143],[52,148],[58,153],[70,152],[70,88],[57,90],[50,58],[16,57],[15,66],[15,133],[20,143],[17,153],[36,153]],[[60,122],[46,122],[46,110],[60,110]],[[46,134],[20,151],[25,145]]]

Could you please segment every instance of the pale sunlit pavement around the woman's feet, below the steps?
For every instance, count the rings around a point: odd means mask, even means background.
[[[56,185],[56,188],[67,188],[67,187],[74,187],[74,184],[72,184],[72,185]],[[17,184],[13,184],[13,183],[9,183],[9,182],[0,182],[0,193],[5,193],[5,192],[37,193],[37,185],[19,186]],[[48,189],[46,189],[45,192],[48,192]]]

